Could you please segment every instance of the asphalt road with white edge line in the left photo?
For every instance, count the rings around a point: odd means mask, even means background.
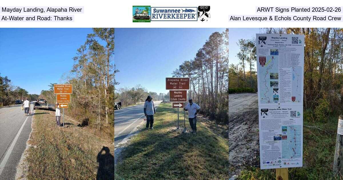
[[[31,133],[32,116],[25,116],[22,104],[0,108],[0,180],[15,178],[16,167]],[[31,114],[33,115],[33,103]]]

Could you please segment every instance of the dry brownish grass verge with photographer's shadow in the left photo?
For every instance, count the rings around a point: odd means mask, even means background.
[[[66,128],[58,128],[55,111],[35,111],[27,179],[114,179],[111,138],[77,123],[66,118]]]

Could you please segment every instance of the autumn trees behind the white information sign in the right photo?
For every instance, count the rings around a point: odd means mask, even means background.
[[[343,29],[264,28],[264,32],[305,36],[304,109],[315,110],[318,115],[324,116],[333,111],[341,112],[343,108]],[[236,57],[239,63],[229,66],[229,87],[252,87],[257,90],[256,69],[250,65],[256,63],[255,39],[241,39],[237,45],[239,52]]]

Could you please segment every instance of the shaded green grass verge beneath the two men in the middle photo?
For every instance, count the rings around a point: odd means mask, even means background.
[[[176,108],[160,104],[154,129],[132,137],[122,151],[116,178],[229,179],[228,142],[199,122],[197,135],[181,133],[182,127],[176,131],[176,119]],[[188,122],[186,127],[190,128]]]

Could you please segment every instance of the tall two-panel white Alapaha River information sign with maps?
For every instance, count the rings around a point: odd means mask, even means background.
[[[304,43],[256,34],[261,169],[303,166]]]

